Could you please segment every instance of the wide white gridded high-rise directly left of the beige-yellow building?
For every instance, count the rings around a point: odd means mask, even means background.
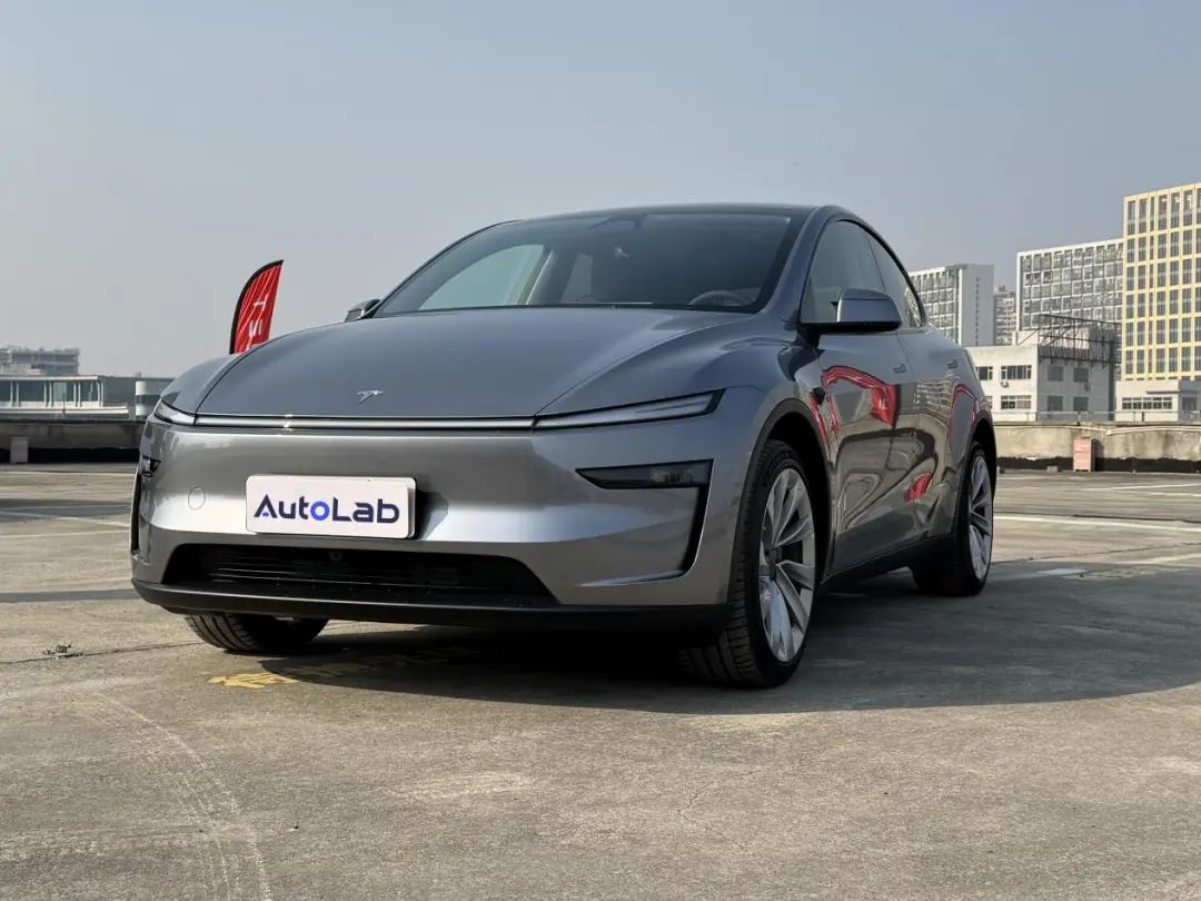
[[[1044,314],[1121,322],[1122,239],[1018,251],[1017,327]]]

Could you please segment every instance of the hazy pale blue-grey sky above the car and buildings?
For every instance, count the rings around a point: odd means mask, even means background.
[[[1121,234],[1201,180],[1201,4],[0,0],[0,345],[173,376],[462,233],[837,203],[910,269]]]

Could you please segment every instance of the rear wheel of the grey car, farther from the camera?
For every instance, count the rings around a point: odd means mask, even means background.
[[[921,591],[948,597],[980,593],[992,566],[992,500],[988,458],[980,444],[973,443],[968,465],[963,469],[955,530],[945,550],[909,567]]]

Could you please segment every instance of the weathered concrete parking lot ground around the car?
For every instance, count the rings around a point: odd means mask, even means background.
[[[0,467],[5,897],[1201,897],[1201,478],[1002,477],[984,595],[830,598],[769,692],[629,636],[129,590],[125,466]]]

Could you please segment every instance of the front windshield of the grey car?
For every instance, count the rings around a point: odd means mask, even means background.
[[[483,306],[643,306],[753,312],[783,268],[791,219],[650,213],[488,228],[418,270],[377,316]]]

